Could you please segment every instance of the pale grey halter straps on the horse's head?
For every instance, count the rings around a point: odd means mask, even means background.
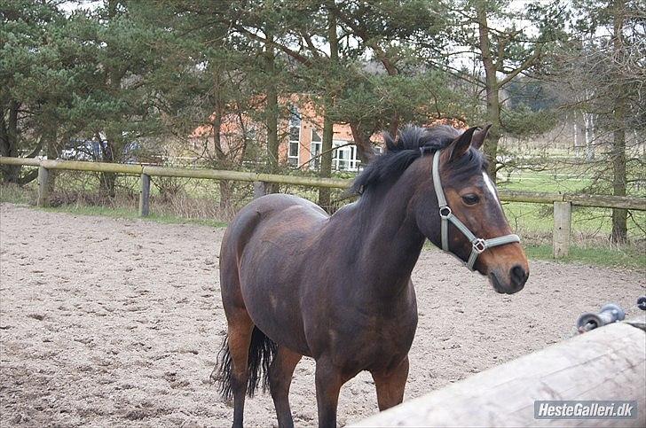
[[[435,187],[435,193],[437,195],[439,216],[442,219],[442,249],[445,252],[449,251],[449,222],[452,222],[453,226],[460,230],[462,235],[467,237],[471,243],[471,255],[469,255],[469,261],[466,262],[466,266],[469,270],[473,271],[473,266],[476,264],[477,256],[480,255],[480,253],[484,252],[487,248],[492,248],[493,246],[520,242],[520,237],[514,234],[505,235],[504,237],[492,237],[491,239],[476,237],[476,235],[474,235],[459,218],[453,215],[451,208],[448,206],[448,203],[446,203],[445,194],[442,190],[442,182],[439,177],[440,152],[441,151],[438,150],[433,155],[433,187]]]

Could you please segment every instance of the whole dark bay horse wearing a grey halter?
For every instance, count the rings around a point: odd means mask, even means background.
[[[289,385],[303,355],[316,362],[320,427],[336,425],[341,386],[362,370],[380,410],[401,403],[417,326],[411,272],[427,238],[496,292],[523,288],[527,259],[480,151],[487,130],[409,126],[385,136],[387,151],[352,184],[360,197],[332,216],[281,194],[240,210],[220,251],[228,333],[212,375],[233,398],[234,427],[261,382],[278,424],[293,426]]]

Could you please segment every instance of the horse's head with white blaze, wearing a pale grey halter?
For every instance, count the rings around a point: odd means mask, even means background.
[[[496,292],[512,294],[523,289],[529,266],[518,238],[511,234],[496,186],[486,173],[480,149],[488,128],[456,133],[437,155],[422,157],[418,170],[425,176],[418,182],[414,198],[415,217],[433,244],[444,246],[469,268],[488,276]]]

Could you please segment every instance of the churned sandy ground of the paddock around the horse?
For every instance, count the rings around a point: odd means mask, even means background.
[[[227,426],[209,385],[225,315],[217,253],[224,230],[0,206],[0,422],[9,425]],[[406,398],[539,350],[577,316],[617,302],[637,315],[644,272],[532,261],[503,296],[437,251],[414,270],[420,323]],[[295,371],[295,424],[316,424],[313,362]],[[269,394],[248,426],[276,424]],[[339,423],[377,411],[372,379],[343,387]]]

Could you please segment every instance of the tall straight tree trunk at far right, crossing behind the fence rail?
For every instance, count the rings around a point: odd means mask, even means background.
[[[612,45],[614,57],[618,66],[623,64],[624,49],[624,9],[626,0],[615,0],[613,27],[614,34]],[[620,72],[618,72],[620,74]],[[613,119],[614,130],[612,133],[612,194],[626,196],[626,95],[623,89],[622,76],[615,79],[618,82],[615,98]],[[627,238],[626,227],[627,212],[625,209],[612,209],[612,235],[611,239],[617,244],[625,244]]]

